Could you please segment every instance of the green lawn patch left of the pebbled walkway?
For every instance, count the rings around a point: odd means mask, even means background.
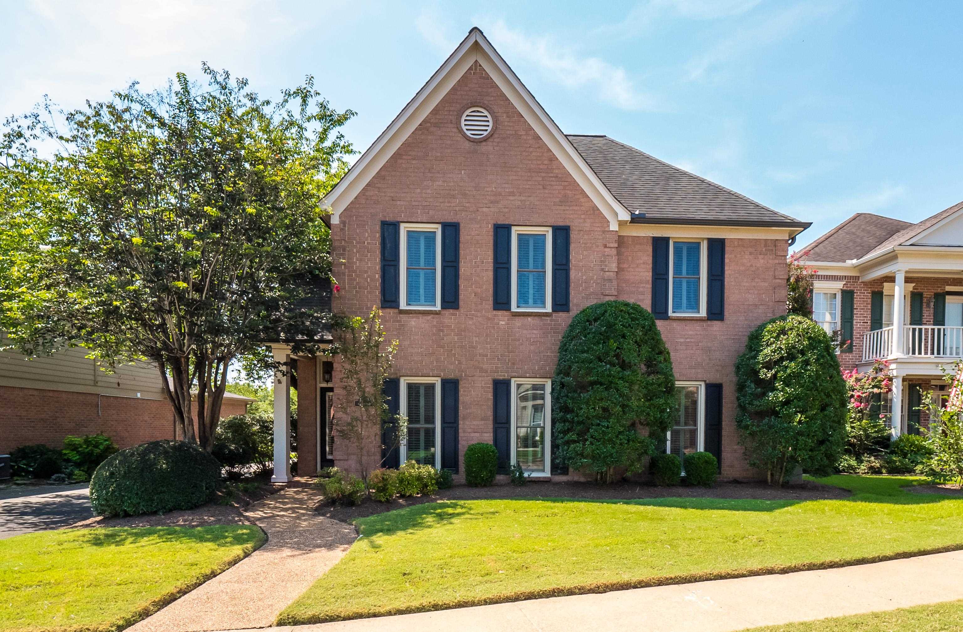
[[[254,526],[69,529],[0,540],[0,631],[117,630],[237,563]]]

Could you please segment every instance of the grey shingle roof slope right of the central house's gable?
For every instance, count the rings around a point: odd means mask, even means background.
[[[618,140],[566,136],[612,195],[630,212],[644,214],[633,222],[809,226]]]

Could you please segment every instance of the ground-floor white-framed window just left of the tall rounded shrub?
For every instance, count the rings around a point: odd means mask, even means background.
[[[511,464],[532,476],[552,471],[552,380],[511,380]]]

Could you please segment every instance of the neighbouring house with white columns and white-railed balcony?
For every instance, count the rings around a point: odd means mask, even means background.
[[[949,394],[943,367],[963,357],[963,202],[916,224],[856,214],[800,252],[817,271],[814,317],[848,342],[840,365],[887,360],[887,423],[918,432],[923,393]]]

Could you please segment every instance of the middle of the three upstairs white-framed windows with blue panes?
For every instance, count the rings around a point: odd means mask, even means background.
[[[551,227],[512,226],[511,241],[512,311],[551,312]]]

